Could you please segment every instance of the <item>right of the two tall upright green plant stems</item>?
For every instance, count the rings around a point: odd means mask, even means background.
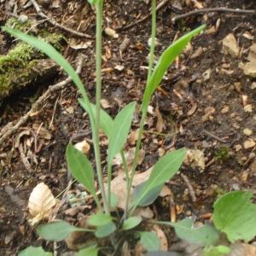
[[[155,46],[155,33],[156,33],[156,0],[151,1],[151,6],[152,6],[151,45],[150,45],[150,53],[149,53],[148,78],[147,78],[146,87],[148,86],[148,81],[151,77],[152,67],[154,64],[154,46]],[[126,196],[126,202],[125,202],[124,219],[127,218],[127,216],[128,216],[131,185],[132,185],[132,181],[133,181],[133,178],[134,178],[134,175],[136,172],[137,160],[138,160],[138,155],[139,155],[142,137],[143,137],[143,125],[144,125],[144,122],[145,122],[145,119],[147,116],[147,109],[148,108],[143,108],[142,118],[141,118],[140,125],[139,125],[134,160],[132,162],[132,167],[131,167],[131,177],[130,177],[128,185],[127,185],[127,196]]]

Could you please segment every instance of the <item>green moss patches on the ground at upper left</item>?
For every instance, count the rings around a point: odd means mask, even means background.
[[[6,26],[12,26],[20,31],[27,31],[31,28],[32,22],[26,20],[21,23],[15,18],[10,18]],[[61,40],[63,36],[59,33],[50,33],[46,30],[41,31],[38,37],[52,44],[55,49],[61,50]],[[40,74],[40,70],[36,71],[39,60],[45,58],[44,54],[32,46],[19,42],[15,48],[10,49],[7,55],[0,55],[0,101],[6,96],[32,81]]]

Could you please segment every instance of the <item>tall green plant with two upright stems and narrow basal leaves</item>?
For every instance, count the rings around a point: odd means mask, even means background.
[[[150,174],[150,177],[148,178],[148,181],[141,184],[139,189],[136,189],[137,194],[134,196],[134,199],[130,203],[131,185],[137,168],[138,154],[143,135],[143,124],[146,119],[150,98],[154,94],[154,90],[156,90],[159,86],[167,68],[170,67],[172,61],[177,58],[177,55],[183,51],[191,38],[200,33],[205,26],[196,28],[169,46],[160,56],[160,60],[154,67],[154,71],[151,72],[154,59],[154,39],[156,27],[156,0],[152,0],[152,43],[150,46],[148,79],[141,106],[142,117],[139,125],[136,151],[131,166],[131,173],[129,173],[123,147],[131,128],[131,122],[133,113],[136,108],[136,102],[127,104],[114,119],[112,119],[108,113],[104,112],[100,108],[102,88],[101,68],[103,0],[90,0],[89,2],[96,7],[96,104],[90,102],[86,91],[84,90],[84,85],[79,79],[78,74],[74,72],[73,67],[71,67],[71,65],[63,58],[63,56],[59,54],[52,46],[42,40],[39,40],[38,38],[33,38],[24,33],[12,30],[8,27],[3,27],[3,30],[6,32],[9,32],[11,35],[20,38],[33,47],[40,49],[44,52],[44,54],[49,55],[50,58],[61,65],[61,67],[73,79],[73,83],[78,87],[82,96],[82,98],[79,99],[79,103],[89,114],[90,119],[96,160],[96,174],[101,190],[102,203],[98,195],[96,195],[96,189],[94,187],[94,170],[90,164],[90,160],[88,160],[84,154],[79,152],[79,150],[74,148],[72,144],[67,146],[67,164],[68,169],[72,173],[73,177],[75,177],[79,183],[84,184],[84,187],[90,192],[96,202],[97,212],[95,214],[91,214],[87,222],[91,229],[81,229],[67,224],[67,222],[58,221],[39,226],[38,235],[47,240],[60,241],[65,239],[73,231],[92,232],[96,238],[107,237],[107,241],[109,241],[107,242],[107,245],[112,244],[113,250],[111,253],[114,255],[115,253],[118,253],[119,247],[122,241],[124,241],[123,238],[125,237],[124,235],[121,236],[121,239],[119,239],[117,235],[124,233],[126,235],[134,234],[135,239],[140,239],[141,243],[148,251],[155,251],[159,249],[160,241],[153,232],[137,231],[129,233],[130,230],[136,228],[137,225],[141,224],[142,222],[142,218],[132,216],[132,214],[134,213],[137,206],[145,206],[154,201],[154,199],[160,193],[160,189],[163,187],[164,183],[172,178],[179,167],[182,165],[183,158],[185,156],[185,149],[181,148],[176,151],[172,151],[171,153],[166,154],[164,157],[158,160]],[[100,129],[104,131],[109,140],[107,157],[107,189],[105,188],[102,181],[102,160],[99,148]],[[114,195],[111,191],[112,161],[113,157],[118,153],[120,153],[122,156],[126,176],[127,196],[125,202],[125,211],[122,218],[114,217],[110,211],[110,208],[114,207]],[[97,246],[91,247],[90,245],[90,247],[83,248],[79,252],[79,255],[96,255],[99,250],[104,252],[104,248]]]

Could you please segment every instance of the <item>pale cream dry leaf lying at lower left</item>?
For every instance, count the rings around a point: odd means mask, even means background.
[[[28,211],[32,216],[32,224],[37,224],[44,218],[49,218],[56,205],[51,190],[45,183],[38,183],[28,199]]]

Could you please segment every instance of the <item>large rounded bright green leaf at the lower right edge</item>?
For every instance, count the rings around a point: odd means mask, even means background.
[[[253,193],[233,191],[214,203],[213,223],[231,242],[251,241],[256,236],[256,204]]]

